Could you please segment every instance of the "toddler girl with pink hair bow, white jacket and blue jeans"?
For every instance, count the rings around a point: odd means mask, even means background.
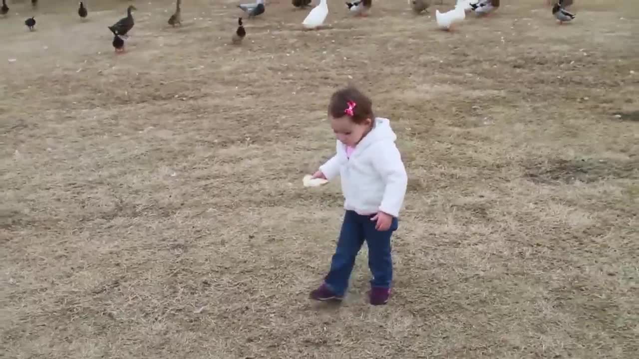
[[[333,94],[328,105],[330,125],[337,137],[337,154],[319,167],[313,178],[340,175],[344,222],[330,271],[314,300],[341,300],[346,293],[355,257],[368,245],[371,304],[389,300],[393,268],[390,236],[406,194],[406,169],[395,146],[397,136],[385,118],[376,118],[371,100],[355,88]]]

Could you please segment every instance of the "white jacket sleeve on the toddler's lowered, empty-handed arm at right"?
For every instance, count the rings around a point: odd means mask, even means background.
[[[380,173],[385,185],[380,211],[398,217],[406,195],[408,176],[394,142],[380,146],[373,158],[373,167]]]

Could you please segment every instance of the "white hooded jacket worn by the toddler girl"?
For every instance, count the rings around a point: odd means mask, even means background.
[[[389,119],[376,118],[374,127],[351,153],[337,140],[337,154],[319,167],[330,181],[341,176],[344,208],[360,215],[383,211],[399,216],[406,194],[407,176],[404,163],[390,128]]]

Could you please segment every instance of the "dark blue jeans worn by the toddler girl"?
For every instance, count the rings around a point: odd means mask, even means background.
[[[328,288],[343,296],[348,288],[348,280],[355,265],[355,257],[364,240],[368,245],[368,266],[373,274],[371,287],[390,288],[393,277],[393,263],[390,256],[390,236],[397,230],[397,218],[387,231],[375,229],[373,215],[358,215],[355,211],[346,211],[344,223],[337,240],[337,248],[330,263],[330,271],[324,282]]]

